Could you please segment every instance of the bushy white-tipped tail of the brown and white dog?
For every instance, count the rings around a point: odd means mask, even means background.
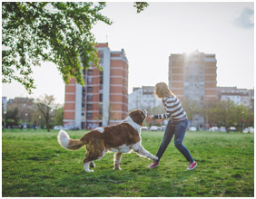
[[[71,139],[64,130],[60,130],[58,141],[65,149],[76,150],[85,145],[82,139]]]

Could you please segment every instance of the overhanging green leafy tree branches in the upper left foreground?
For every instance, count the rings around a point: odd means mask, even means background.
[[[18,81],[32,93],[32,66],[54,62],[65,83],[84,85],[83,70],[99,66],[93,25],[112,24],[100,12],[106,3],[3,2],[2,82]],[[136,2],[137,13],[148,4]]]

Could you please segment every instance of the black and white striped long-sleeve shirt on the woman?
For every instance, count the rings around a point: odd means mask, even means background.
[[[166,113],[154,115],[153,118],[171,118],[173,120],[186,117],[186,112],[182,109],[181,101],[175,97],[162,98],[162,103]]]

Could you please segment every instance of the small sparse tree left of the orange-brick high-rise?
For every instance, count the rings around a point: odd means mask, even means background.
[[[50,131],[50,122],[53,117],[54,108],[54,96],[44,95],[43,97],[36,99],[35,106],[40,111],[44,117],[47,131]]]

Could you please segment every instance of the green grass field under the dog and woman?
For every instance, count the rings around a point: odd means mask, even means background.
[[[57,142],[57,131],[4,131],[2,134],[2,196],[59,197],[187,197],[254,196],[254,135],[187,132],[183,144],[198,166],[188,163],[173,141],[161,165],[124,154],[123,170],[113,170],[113,153],[95,161],[94,173],[85,173],[84,148],[68,151]],[[69,131],[80,138],[84,131]],[[156,154],[163,132],[143,131],[143,147]]]

